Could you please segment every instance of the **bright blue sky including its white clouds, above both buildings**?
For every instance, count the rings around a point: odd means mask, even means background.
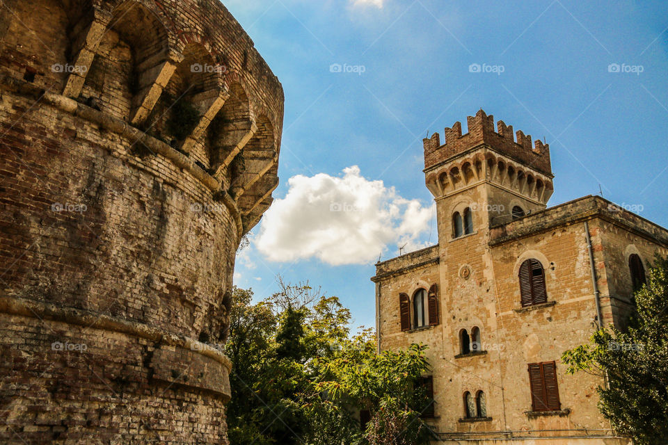
[[[223,3],[285,90],[281,185],[235,270],[257,298],[280,273],[374,325],[379,256],[436,242],[422,138],[479,108],[550,144],[549,205],[600,185],[668,226],[667,2]]]

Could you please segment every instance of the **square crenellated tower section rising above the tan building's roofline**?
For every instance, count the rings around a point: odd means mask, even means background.
[[[471,211],[476,228],[499,225],[545,209],[553,191],[549,145],[532,145],[530,135],[513,133],[502,121],[495,131],[493,116],[482,110],[467,124],[465,134],[461,122],[446,128],[443,143],[439,133],[423,141],[427,188],[438,202],[439,232],[446,238],[455,237],[454,213],[465,218],[463,212]]]

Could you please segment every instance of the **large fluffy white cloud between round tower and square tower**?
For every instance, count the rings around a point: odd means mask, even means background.
[[[383,181],[369,181],[357,165],[342,177],[320,173],[289,179],[289,190],[262,218],[257,249],[271,261],[315,257],[334,266],[369,264],[388,244],[404,252],[424,247],[432,208],[406,200]]]

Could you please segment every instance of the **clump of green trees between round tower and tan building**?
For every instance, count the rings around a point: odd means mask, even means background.
[[[255,304],[252,291],[234,289],[230,442],[426,444],[416,410],[427,405],[417,386],[429,369],[426,346],[376,354],[372,330],[350,336],[350,312],[337,297],[308,282],[279,284]],[[366,430],[360,409],[373,413]]]

